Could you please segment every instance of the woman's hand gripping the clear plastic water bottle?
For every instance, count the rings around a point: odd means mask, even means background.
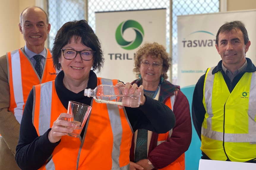
[[[143,85],[140,85],[140,87],[138,87],[138,85],[135,84],[135,83],[132,85],[131,83],[127,82],[124,85],[124,83],[118,82],[115,85],[115,87],[116,88],[124,87],[124,94],[125,95],[127,95],[128,93],[133,94],[135,92],[135,90],[138,89],[138,91],[141,92],[141,94],[140,94],[140,106],[142,106],[145,103],[145,101],[146,101],[146,98],[145,98],[145,96],[143,94]],[[123,107],[124,106],[119,106],[120,109],[123,108]]]

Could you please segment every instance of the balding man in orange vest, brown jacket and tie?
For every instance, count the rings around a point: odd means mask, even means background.
[[[0,57],[0,169],[20,169],[15,162],[20,121],[33,85],[54,80],[56,70],[45,41],[50,32],[48,16],[39,7],[20,14],[19,30],[25,47]]]

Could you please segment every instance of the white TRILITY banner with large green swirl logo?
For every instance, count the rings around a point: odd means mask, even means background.
[[[96,12],[95,17],[105,58],[98,77],[132,82],[138,47],[146,42],[166,46],[166,9]]]

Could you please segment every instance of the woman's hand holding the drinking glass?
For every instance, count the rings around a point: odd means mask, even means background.
[[[61,136],[67,135],[75,128],[75,124],[66,121],[67,118],[72,118],[71,114],[61,113],[48,134],[48,139],[51,143],[56,143],[61,139]]]

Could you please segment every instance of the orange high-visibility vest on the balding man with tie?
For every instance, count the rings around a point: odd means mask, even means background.
[[[53,68],[53,61],[49,49],[43,68],[42,79],[40,80],[30,59],[20,49],[7,53],[10,86],[10,107],[9,110],[15,115],[20,123],[23,109],[33,85],[52,81],[56,77],[56,70]]]

